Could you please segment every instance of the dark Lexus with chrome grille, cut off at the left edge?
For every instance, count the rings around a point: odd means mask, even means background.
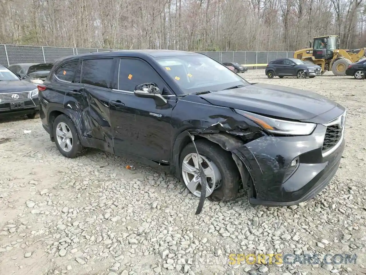
[[[27,115],[38,118],[39,109],[37,87],[0,65],[0,117]]]

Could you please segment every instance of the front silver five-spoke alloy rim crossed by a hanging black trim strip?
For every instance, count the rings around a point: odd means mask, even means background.
[[[200,155],[200,162],[206,176],[206,197],[221,186],[221,173],[219,168],[207,157]],[[190,153],[182,162],[182,176],[188,190],[197,197],[201,196],[201,175],[199,173],[197,154]]]

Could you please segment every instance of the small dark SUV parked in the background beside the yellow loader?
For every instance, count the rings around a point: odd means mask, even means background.
[[[305,63],[297,58],[280,58],[272,60],[266,67],[266,76],[273,78],[278,76],[296,76],[297,78],[313,78],[321,74],[321,67],[315,64]]]

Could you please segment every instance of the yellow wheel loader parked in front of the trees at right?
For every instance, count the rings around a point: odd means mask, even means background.
[[[348,65],[366,57],[366,48],[340,49],[337,35],[314,37],[313,47],[311,41],[309,46],[296,51],[294,58],[321,66],[322,74],[332,70],[336,76],[345,76]]]

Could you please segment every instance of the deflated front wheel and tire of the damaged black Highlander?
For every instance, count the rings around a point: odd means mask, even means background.
[[[197,140],[195,144],[208,183],[206,198],[211,201],[235,199],[239,190],[240,173],[231,153],[208,140]],[[182,150],[179,165],[182,183],[193,195],[200,197],[201,180],[197,174],[197,153],[193,143],[189,143]]]

